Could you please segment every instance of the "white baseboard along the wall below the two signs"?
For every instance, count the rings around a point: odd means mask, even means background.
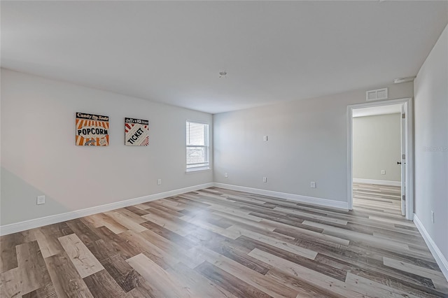
[[[105,204],[102,206],[95,206],[90,208],[85,208],[77,211],[70,211],[66,213],[61,213],[57,215],[45,216],[43,218],[36,218],[34,220],[25,220],[23,222],[16,222],[9,225],[0,226],[0,236],[13,234],[15,232],[25,231],[26,229],[34,229],[35,227],[42,227],[44,225],[52,225],[57,222],[64,222],[66,220],[73,220],[75,218],[82,218],[87,215],[92,215],[96,213],[102,213],[106,211],[111,211],[118,208],[123,208],[127,206],[137,205],[145,203],[147,201],[155,201],[156,199],[163,199],[166,197],[176,196],[178,194],[184,194],[186,192],[194,192],[195,190],[202,190],[207,187],[214,186],[214,183],[205,183],[201,185],[195,185],[185,188],[180,188],[178,190],[170,190],[168,192],[160,192],[158,194],[150,194],[148,196],[127,199],[125,201],[116,201],[111,204]]]

